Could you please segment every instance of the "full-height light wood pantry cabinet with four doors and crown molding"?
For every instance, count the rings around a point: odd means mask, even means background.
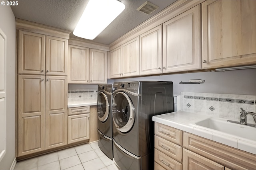
[[[67,145],[68,31],[16,19],[17,156]]]

